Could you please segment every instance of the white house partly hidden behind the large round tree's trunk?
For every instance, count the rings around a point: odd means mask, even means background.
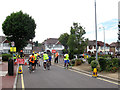
[[[10,41],[6,39],[5,36],[0,36],[0,53],[9,53],[10,51]],[[29,41],[28,45],[23,49],[24,54],[31,54],[32,52],[32,42]]]

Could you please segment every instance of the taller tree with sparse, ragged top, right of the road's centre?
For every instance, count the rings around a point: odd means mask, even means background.
[[[73,27],[70,30],[70,36],[68,38],[67,45],[69,47],[69,53],[73,56],[74,54],[84,53],[88,39],[85,39],[85,29],[78,23],[73,23]]]

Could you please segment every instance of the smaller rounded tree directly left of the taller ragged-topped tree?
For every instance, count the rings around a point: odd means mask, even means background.
[[[68,49],[68,46],[67,46],[68,38],[69,38],[69,34],[68,33],[63,33],[59,37],[59,41],[65,47],[65,51],[66,52],[67,52],[67,49]]]

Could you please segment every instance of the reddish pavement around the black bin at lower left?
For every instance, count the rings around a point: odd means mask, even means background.
[[[14,65],[14,75],[8,75],[8,62],[0,64],[0,89],[13,88],[16,77],[17,65]]]

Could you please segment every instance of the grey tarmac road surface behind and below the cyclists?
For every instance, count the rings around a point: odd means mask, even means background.
[[[52,65],[51,70],[43,70],[41,66],[31,74],[27,66],[23,66],[23,82],[21,75],[18,75],[17,88],[118,88],[104,80],[92,78],[90,76],[67,70],[57,65]]]

